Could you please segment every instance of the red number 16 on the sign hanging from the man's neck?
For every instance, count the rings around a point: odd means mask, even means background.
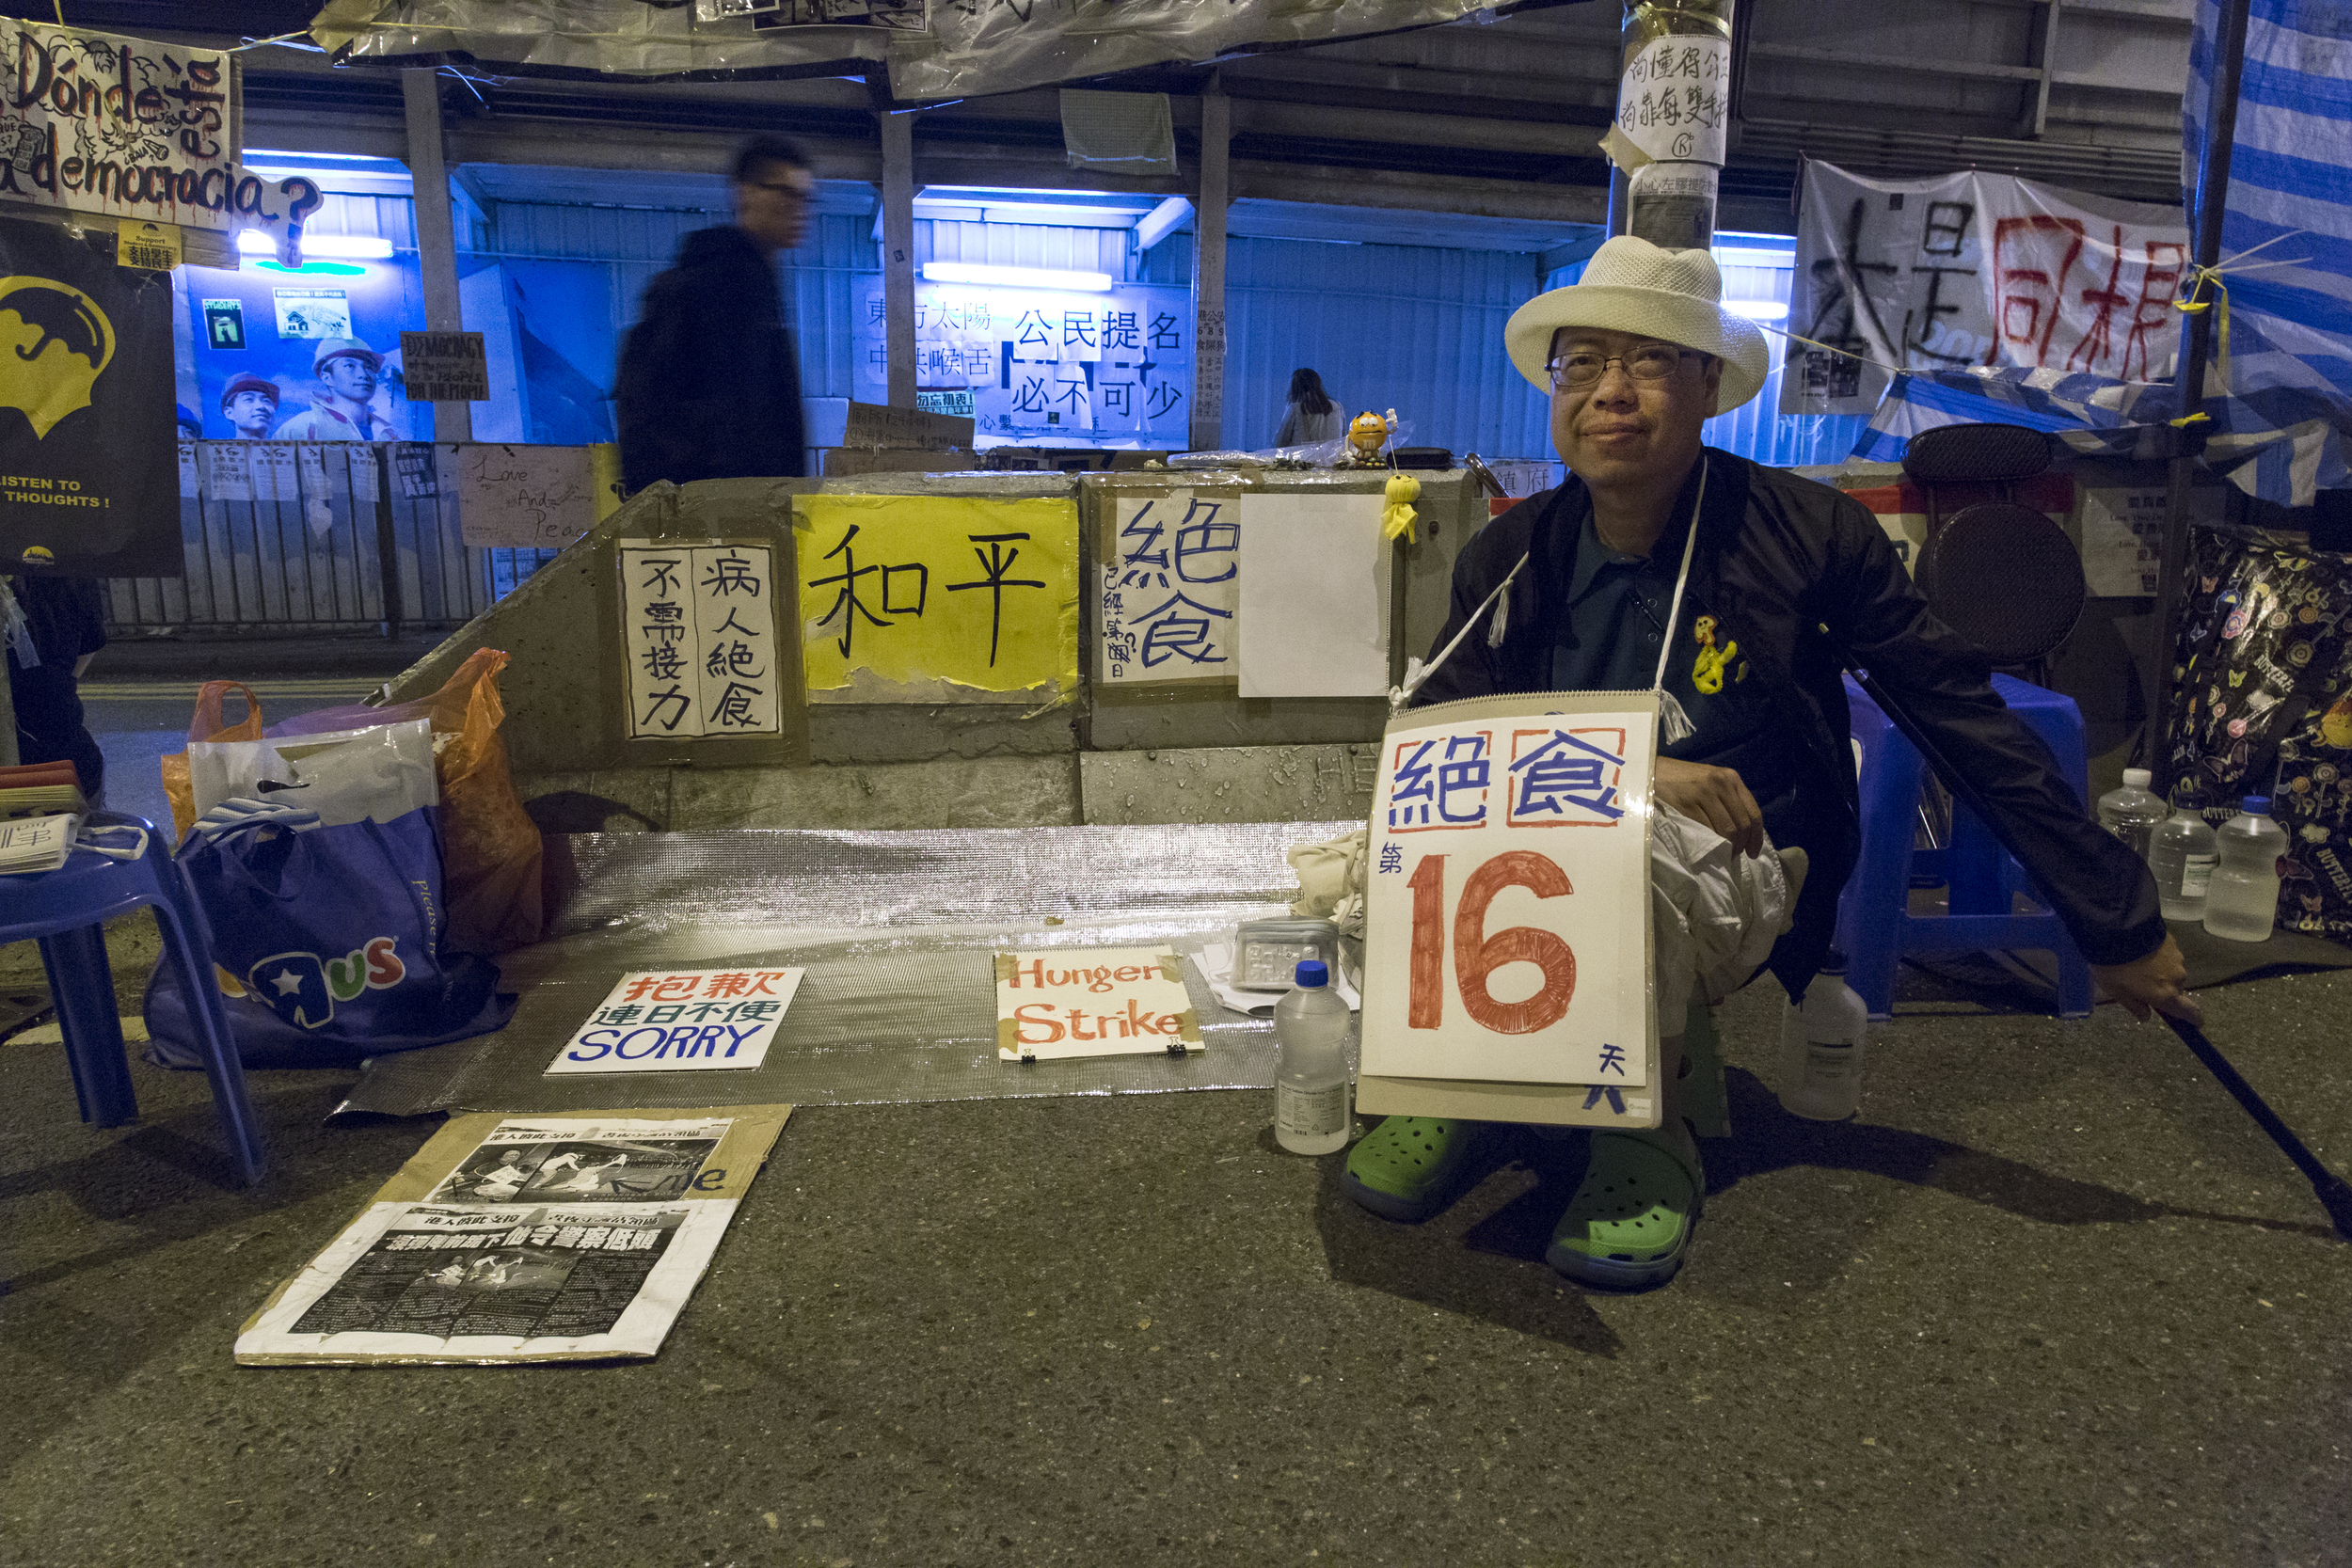
[[[1414,952],[1404,1023],[1414,1030],[1435,1030],[1446,1011],[1446,858],[1421,856],[1406,886],[1414,889]],[[1538,926],[1510,926],[1486,936],[1486,907],[1508,886],[1524,886],[1536,898],[1566,898],[1576,891],[1564,870],[1529,849],[1484,860],[1463,882],[1461,903],[1454,907],[1454,987],[1463,997],[1463,1011],[1486,1030],[1534,1034],[1569,1016],[1569,999],[1576,994],[1576,952]],[[1524,1001],[1496,1001],[1486,987],[1494,971],[1505,964],[1534,964],[1543,971],[1543,987]]]

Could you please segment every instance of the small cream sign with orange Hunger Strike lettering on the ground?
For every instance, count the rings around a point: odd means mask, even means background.
[[[997,954],[997,1060],[1200,1048],[1200,1016],[1171,947]]]

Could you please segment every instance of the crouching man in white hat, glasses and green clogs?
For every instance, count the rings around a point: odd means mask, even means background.
[[[1512,364],[1552,397],[1569,482],[1463,548],[1432,649],[1470,635],[1449,658],[1432,651],[1416,703],[1644,691],[1665,654],[1663,686],[1696,733],[1661,748],[1656,799],[1748,856],[1766,832],[1806,851],[1795,926],[1769,959],[1802,997],[1860,849],[1842,670],[1870,670],[1985,797],[1992,830],[2105,992],[2143,1020],[2150,1009],[2194,1020],[2147,867],[2084,816],[1992,691],[1983,654],[1929,614],[1877,520],[1825,484],[1700,444],[1700,425],[1755,397],[1766,374],[1762,334],[1719,301],[1708,252],[1621,235],[1578,284],[1510,317]],[[1665,625],[1684,559],[1682,614]],[[1505,578],[1508,614],[1486,604]],[[1550,1265],[1583,1284],[1663,1284],[1689,1255],[1705,1173],[1682,1110],[1682,1020],[1661,1018],[1658,1034],[1663,1126],[1595,1133],[1552,1232]],[[1374,1213],[1423,1220],[1475,1175],[1477,1140],[1477,1124],[1390,1117],[1348,1157],[1345,1187]]]

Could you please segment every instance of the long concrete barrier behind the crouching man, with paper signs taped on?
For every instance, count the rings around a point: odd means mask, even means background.
[[[1486,503],[1461,470],[1421,477],[1418,543],[1404,550],[1404,651],[1425,654],[1446,614],[1454,557]],[[1362,816],[1381,698],[1242,698],[1230,682],[1110,689],[1094,677],[1096,559],[1117,494],[1192,487],[1374,496],[1383,473],[981,473],[840,480],[713,480],[654,487],[548,562],[390,682],[433,691],[475,649],[506,649],[506,745],[548,832],[691,827],[1021,827],[1065,823],[1242,823]],[[814,701],[804,762],[739,741],[619,738],[623,651],[612,595],[616,538],[764,541],[795,562],[800,496],[985,496],[1077,503],[1080,677],[1042,703]],[[802,581],[809,567],[797,567]],[[779,578],[781,578],[779,569]],[[1247,637],[1247,628],[1244,628]]]

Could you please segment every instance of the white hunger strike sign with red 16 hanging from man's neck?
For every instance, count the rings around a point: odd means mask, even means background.
[[[1646,693],[1477,698],[1395,719],[1371,806],[1367,1110],[1656,1124]],[[1414,1081],[1414,1084],[1399,1084]]]

